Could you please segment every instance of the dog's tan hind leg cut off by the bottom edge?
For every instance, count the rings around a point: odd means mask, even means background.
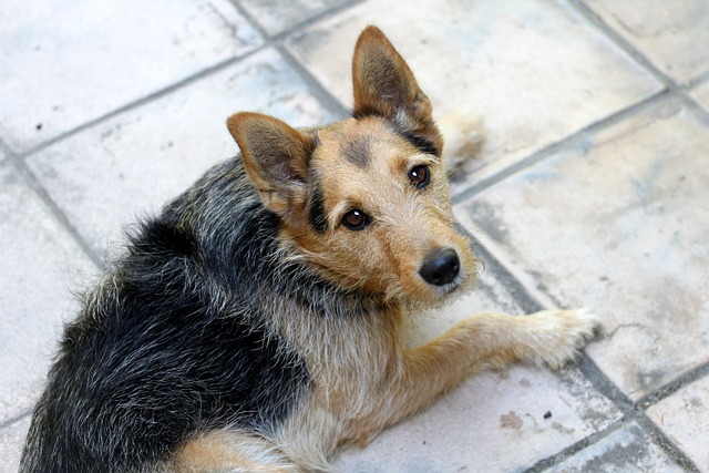
[[[172,473],[290,473],[301,472],[277,445],[253,433],[216,430],[183,443],[174,455]]]

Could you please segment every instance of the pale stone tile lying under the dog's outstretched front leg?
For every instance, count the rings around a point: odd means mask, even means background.
[[[414,346],[423,343],[464,317],[489,310],[522,313],[501,280],[483,273],[477,290],[417,320],[409,340]],[[544,419],[546,412],[552,413],[549,419]],[[553,373],[516,366],[472,376],[429,410],[381,433],[366,449],[342,452],[333,470],[516,471],[619,417],[574,368]]]

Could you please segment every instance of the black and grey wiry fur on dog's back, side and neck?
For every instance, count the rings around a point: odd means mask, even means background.
[[[240,160],[141,224],[65,329],[21,471],[145,470],[199,431],[267,432],[287,419],[310,379],[268,328],[271,301],[317,317],[371,308],[280,260],[278,226]]]

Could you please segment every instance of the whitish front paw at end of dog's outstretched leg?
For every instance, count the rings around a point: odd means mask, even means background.
[[[544,310],[526,318],[530,323],[527,359],[537,366],[559,369],[574,360],[588,340],[602,330],[590,309]]]

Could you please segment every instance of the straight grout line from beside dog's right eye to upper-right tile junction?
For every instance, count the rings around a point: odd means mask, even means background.
[[[634,103],[633,105],[629,105],[610,115],[607,115],[604,119],[598,120],[597,122],[593,122],[584,126],[583,128],[574,132],[573,134],[567,135],[559,141],[553,142],[544,146],[543,148],[533,152],[532,154],[527,155],[526,157],[523,157],[516,163],[513,163],[510,166],[502,168],[501,171],[496,172],[490,177],[483,178],[476,182],[475,184],[473,184],[472,186],[456,193],[452,198],[453,205],[467,200],[469,198],[480,194],[486,188],[500,183],[501,181],[506,179],[513,174],[516,174],[528,167],[532,167],[533,165],[546,160],[547,157],[558,153],[559,151],[573,148],[574,145],[583,142],[587,137],[587,135],[590,135],[602,130],[605,130],[607,127],[610,127],[626,120],[628,116],[634,115],[638,112],[648,110],[655,106],[657,103],[674,95],[675,95],[674,93],[671,93],[667,89],[664,89],[653,95],[649,95],[646,99],[643,99],[639,102]],[[471,175],[469,175],[469,177],[474,178],[475,173],[472,173]]]

